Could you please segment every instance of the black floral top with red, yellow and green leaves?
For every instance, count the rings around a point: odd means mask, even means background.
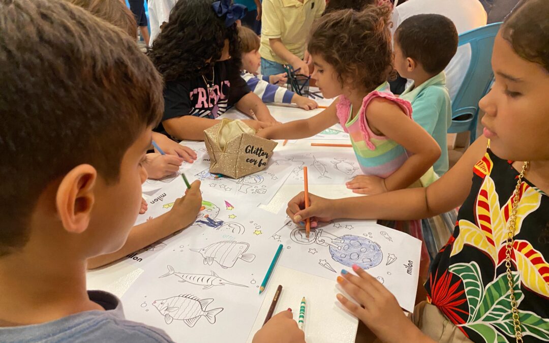
[[[430,267],[427,301],[474,342],[514,342],[505,250],[519,173],[490,149],[473,171],[453,235]],[[514,293],[524,342],[549,341],[549,196],[526,178],[512,252]]]

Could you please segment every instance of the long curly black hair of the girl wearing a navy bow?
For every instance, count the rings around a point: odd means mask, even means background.
[[[164,81],[188,80],[211,72],[221,57],[225,40],[234,68],[240,71],[242,59],[236,23],[225,27],[225,15],[217,16],[212,0],[179,0],[170,19],[148,50]],[[210,59],[209,62],[206,60]]]

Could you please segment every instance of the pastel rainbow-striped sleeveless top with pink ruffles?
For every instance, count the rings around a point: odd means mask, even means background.
[[[362,172],[365,175],[386,178],[404,164],[408,159],[408,153],[402,145],[387,137],[378,136],[368,126],[366,108],[372,99],[377,97],[393,101],[410,119],[412,118],[412,105],[395,97],[387,82],[364,97],[362,106],[354,118],[350,100],[341,95],[336,106],[336,114],[343,130],[349,133]]]

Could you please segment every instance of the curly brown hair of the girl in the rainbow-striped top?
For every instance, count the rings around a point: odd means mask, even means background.
[[[334,67],[341,86],[349,80],[371,92],[392,69],[390,12],[388,5],[368,5],[328,13],[315,22],[307,49]]]

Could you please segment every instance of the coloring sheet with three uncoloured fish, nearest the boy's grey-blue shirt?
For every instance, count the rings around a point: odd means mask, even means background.
[[[185,230],[122,296],[126,318],[163,329],[176,342],[242,343],[277,248],[253,235]]]

